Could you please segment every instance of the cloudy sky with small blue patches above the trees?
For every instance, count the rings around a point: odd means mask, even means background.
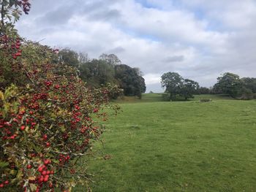
[[[210,87],[224,72],[256,77],[255,0],[31,0],[23,37],[139,67],[147,91],[178,72]]]

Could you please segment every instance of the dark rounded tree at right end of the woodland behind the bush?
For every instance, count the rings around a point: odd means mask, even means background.
[[[137,70],[121,64],[115,66],[115,77],[125,96],[138,96],[146,91],[145,80],[138,75]]]

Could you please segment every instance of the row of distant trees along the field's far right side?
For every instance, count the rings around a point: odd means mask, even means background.
[[[256,78],[243,77],[226,72],[217,77],[212,88],[200,87],[194,80],[184,79],[176,72],[162,74],[161,85],[165,88],[165,100],[187,100],[195,94],[227,94],[234,99],[256,99]]]

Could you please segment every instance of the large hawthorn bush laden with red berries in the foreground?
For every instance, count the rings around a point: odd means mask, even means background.
[[[30,9],[26,0],[0,2],[2,18],[5,9],[6,17]],[[59,62],[58,50],[24,41],[13,20],[2,19],[0,33],[0,191],[89,188],[89,173],[77,162],[99,140],[105,109],[118,110],[109,98],[119,90],[86,88]]]

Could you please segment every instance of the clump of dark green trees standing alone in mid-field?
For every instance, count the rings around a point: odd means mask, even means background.
[[[178,96],[185,100],[192,98],[199,88],[198,82],[184,79],[176,72],[167,72],[161,77],[162,87],[165,87],[165,93],[169,94],[169,100],[176,100]],[[166,99],[166,96],[164,96]]]

